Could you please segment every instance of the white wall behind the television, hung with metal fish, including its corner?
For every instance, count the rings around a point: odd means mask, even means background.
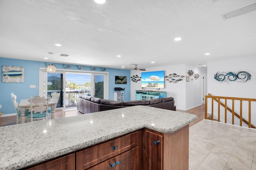
[[[194,73],[198,73],[199,75],[202,75],[202,72],[206,72],[206,70],[203,68],[198,68],[187,64],[147,68],[146,72],[164,70],[165,76],[173,73],[176,73],[180,76],[184,75],[184,80],[179,81],[178,83],[170,83],[165,81],[165,88],[160,89],[160,91],[167,92],[167,97],[174,98],[176,109],[188,110],[189,108],[201,105],[201,78],[199,77],[198,80],[194,80],[193,77],[193,80],[191,81],[190,77],[190,82],[186,82],[186,76],[188,76],[187,72],[189,69],[195,70]],[[132,70],[131,76],[141,76],[141,72],[142,71],[140,70]],[[186,86],[188,86],[188,88]],[[142,90],[140,81],[131,81],[131,100],[135,100],[135,90]],[[146,88],[146,90],[156,91],[156,89],[152,88]]]

